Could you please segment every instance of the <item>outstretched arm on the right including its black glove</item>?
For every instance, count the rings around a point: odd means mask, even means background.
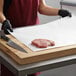
[[[57,16],[57,15],[61,17],[72,16],[68,10],[54,8],[46,5],[45,0],[40,0],[38,11],[40,14],[49,15],[49,16]]]

